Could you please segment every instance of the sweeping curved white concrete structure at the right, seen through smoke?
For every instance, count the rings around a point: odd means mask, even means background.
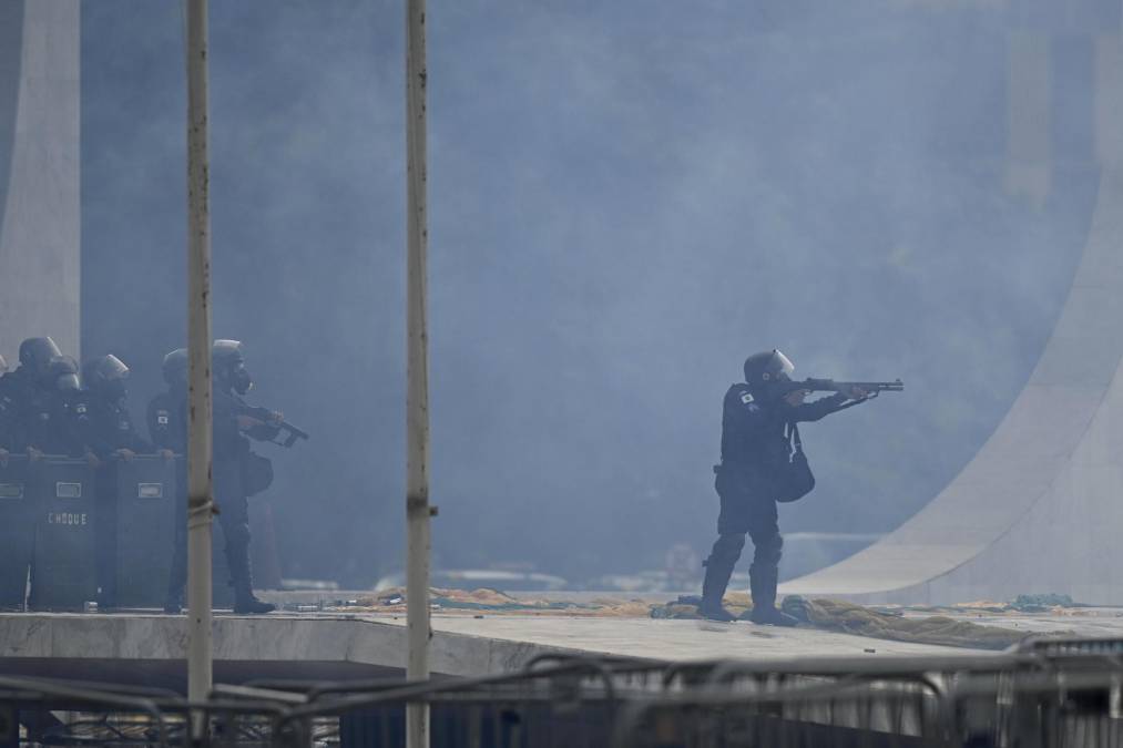
[[[1056,154],[1032,146],[1043,148],[1049,137],[1030,131],[1042,121],[1041,94],[1021,63],[1047,75],[1048,58],[1033,57],[1050,47],[1019,34],[1007,189],[1042,199]],[[905,603],[1061,592],[1123,604],[1123,40],[1117,30],[1086,38],[1098,199],[1068,301],[1029,384],[975,459],[920,513],[783,592]],[[1019,101],[1029,102],[1026,111]]]

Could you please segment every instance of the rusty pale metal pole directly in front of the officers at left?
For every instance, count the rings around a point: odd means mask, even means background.
[[[188,696],[211,690],[211,312],[207,0],[188,0]]]

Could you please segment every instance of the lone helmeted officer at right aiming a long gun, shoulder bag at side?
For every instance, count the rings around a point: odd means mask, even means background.
[[[745,547],[752,539],[749,586],[755,623],[795,626],[791,615],[776,608],[776,584],[784,540],[779,535],[774,489],[777,466],[786,462],[789,444],[786,429],[818,421],[852,402],[866,399],[853,389],[805,403],[805,392],[791,389],[792,362],[779,350],[749,356],[745,382],[733,384],[722,405],[721,464],[714,467],[715,487],[721,499],[718,540],[704,562],[705,580],[699,612],[705,618],[731,621],[722,605],[729,577]]]

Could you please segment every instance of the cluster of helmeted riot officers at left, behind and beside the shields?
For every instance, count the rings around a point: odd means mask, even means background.
[[[227,565],[238,613],[274,609],[253,591],[249,563],[247,496],[264,490],[272,468],[250,451],[249,439],[272,440],[284,421],[280,413],[254,409],[243,400],[253,386],[243,346],[216,340],[213,374],[213,489],[225,538]],[[140,454],[167,459],[186,454],[188,352],[179,348],[163,362],[166,390],[148,404],[148,438],[136,428],[126,404],[129,367],[112,354],[86,361],[80,368],[49,337],[28,338],[19,346],[13,371],[0,357],[0,465],[12,454],[31,460],[46,455],[86,459],[100,472],[115,460]],[[186,471],[176,469],[176,537],[164,610],[179,613],[186,583]],[[262,463],[265,467],[262,467]],[[263,475],[264,472],[264,475]],[[99,491],[101,490],[99,482]],[[118,541],[128,541],[119,539]],[[99,549],[99,566],[106,563]],[[34,572],[33,572],[34,578]],[[99,603],[113,606],[112,591],[101,587]]]

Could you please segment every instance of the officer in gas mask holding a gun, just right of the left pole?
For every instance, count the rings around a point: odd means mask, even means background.
[[[246,358],[238,340],[216,340],[211,349],[214,378],[214,499],[219,522],[226,539],[226,559],[234,584],[236,613],[268,613],[275,606],[254,596],[254,577],[249,563],[249,502],[246,478],[252,460],[249,438],[268,440],[277,435],[271,421],[281,421],[272,413],[268,421],[247,414],[241,395],[254,385],[246,370]]]

